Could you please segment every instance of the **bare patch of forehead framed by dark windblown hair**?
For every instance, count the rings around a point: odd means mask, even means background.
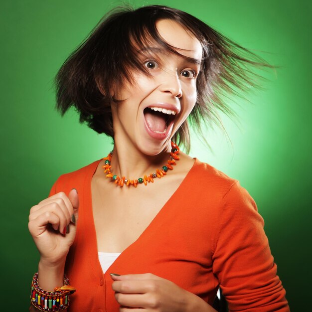
[[[200,41],[176,21],[160,19],[156,22],[156,28],[160,37],[180,54],[199,60],[202,58]]]

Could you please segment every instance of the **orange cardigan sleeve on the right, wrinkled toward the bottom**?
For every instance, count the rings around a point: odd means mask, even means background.
[[[213,272],[229,311],[289,312],[255,201],[235,181],[221,209],[212,246]]]

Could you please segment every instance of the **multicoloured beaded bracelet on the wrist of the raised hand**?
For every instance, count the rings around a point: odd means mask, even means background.
[[[62,311],[68,308],[69,295],[75,291],[75,288],[69,285],[68,277],[64,274],[64,286],[56,287],[54,292],[46,292],[38,285],[37,272],[32,278],[30,302],[40,311]]]

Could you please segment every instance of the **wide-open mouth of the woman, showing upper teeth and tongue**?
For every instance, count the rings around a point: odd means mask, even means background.
[[[165,108],[147,107],[144,109],[146,123],[156,133],[165,133],[174,120],[174,115],[175,112]]]

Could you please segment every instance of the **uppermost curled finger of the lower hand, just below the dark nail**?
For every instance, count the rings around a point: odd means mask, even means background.
[[[113,282],[112,289],[122,294],[146,294],[157,292],[157,284],[155,280],[124,280]]]

